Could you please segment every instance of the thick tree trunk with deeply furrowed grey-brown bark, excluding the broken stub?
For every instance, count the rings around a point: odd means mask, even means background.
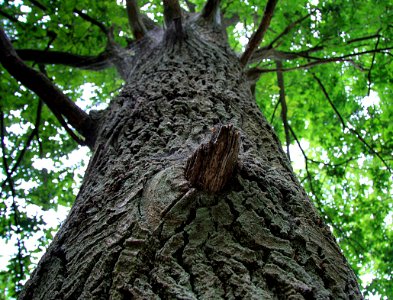
[[[184,31],[140,43],[21,299],[361,298],[239,59],[219,32]],[[184,173],[219,124],[233,124],[241,145],[227,184],[209,192]]]

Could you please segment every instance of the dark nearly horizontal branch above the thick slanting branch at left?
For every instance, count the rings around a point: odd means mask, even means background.
[[[99,71],[112,66],[111,54],[104,51],[97,56],[82,56],[60,51],[18,49],[18,56],[24,61],[37,64],[65,65],[84,70]]]

